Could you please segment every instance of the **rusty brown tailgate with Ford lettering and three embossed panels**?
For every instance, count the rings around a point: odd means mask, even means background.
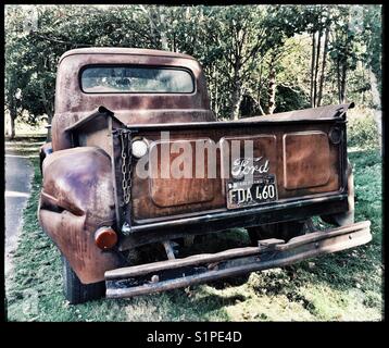
[[[133,141],[143,139],[149,146],[149,177],[139,177],[133,171],[134,222],[344,192],[346,111],[350,107],[236,122],[127,125]],[[244,153],[244,144],[251,144],[249,156]],[[203,146],[203,157],[197,157],[199,145]],[[162,156],[166,149],[167,158]],[[210,163],[215,163],[215,167],[210,169]],[[243,170],[253,172],[251,183],[239,177]]]

